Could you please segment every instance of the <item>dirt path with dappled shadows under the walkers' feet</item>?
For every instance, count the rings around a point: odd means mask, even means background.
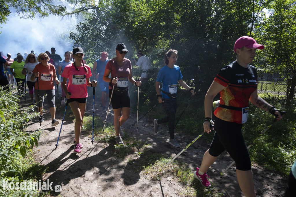
[[[46,103],[46,102],[45,102]],[[48,109],[45,105],[44,109]],[[161,110],[161,108],[159,108]],[[70,111],[68,106],[67,111]],[[86,116],[92,115],[92,94],[89,95],[87,101]],[[103,120],[106,113],[101,113],[99,96],[96,96],[95,115]],[[107,122],[112,122],[113,113],[108,115]],[[60,113],[60,123],[62,121],[63,112]],[[57,117],[57,116],[56,116]],[[148,116],[147,116],[148,117]],[[138,138],[139,141],[150,144],[145,149],[146,154],[161,153],[167,157],[174,157],[180,152],[179,149],[172,148],[167,143],[168,128],[165,125],[160,126],[160,131],[155,134],[153,131],[153,123],[151,118],[143,118],[139,121]],[[143,162],[147,162],[145,158],[138,157],[132,152],[124,159],[118,157],[114,148],[115,141],[109,143],[95,141],[91,144],[91,138],[86,133],[81,133],[81,143],[83,149],[81,154],[74,153],[74,122],[73,118],[66,115],[62,126],[62,132],[59,139],[59,146],[55,149],[60,126],[51,127],[49,110],[44,113],[44,123],[41,123],[44,129],[39,141],[38,154],[36,160],[48,167],[43,180],[49,179],[54,185],[61,185],[62,191],[54,192],[53,195],[61,196],[188,196],[186,193],[188,188],[184,187],[172,177],[170,168],[166,168],[161,179],[152,179],[152,174],[143,173],[140,166]],[[136,121],[136,115],[131,114],[130,118],[123,124],[123,131],[127,136],[136,138],[136,128],[132,124]],[[39,123],[29,122],[28,131],[39,129]],[[115,134],[114,134],[115,135]],[[176,139],[181,147],[185,147],[192,141],[192,137],[187,137],[182,133],[176,134]],[[123,141],[125,137],[123,137]],[[195,170],[200,166],[202,156],[209,147],[209,143],[197,140],[189,149],[186,155],[180,155],[178,160],[186,163],[187,167]],[[143,153],[142,153],[143,154]],[[133,163],[130,162],[131,158]],[[147,159],[147,158],[146,158]],[[155,161],[150,161],[153,165]],[[210,176],[210,182],[214,185],[217,193],[223,193],[224,196],[243,196],[235,174],[235,167],[228,172],[224,172],[224,176],[220,175],[232,159],[228,154],[224,153],[207,174]],[[146,166],[149,164],[146,164]],[[284,194],[287,178],[272,174],[262,166],[253,165],[255,190],[258,196],[282,196]],[[195,189],[203,189],[200,183],[194,185]]]

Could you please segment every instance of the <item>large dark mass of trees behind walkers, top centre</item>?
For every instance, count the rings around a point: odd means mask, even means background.
[[[114,57],[116,45],[124,42],[127,58],[140,49],[152,58],[155,68],[163,66],[165,51],[177,49],[183,80],[205,94],[217,71],[233,61],[235,40],[252,32],[268,2],[99,1],[87,8],[91,15],[76,26],[70,38],[93,61],[102,51]]]

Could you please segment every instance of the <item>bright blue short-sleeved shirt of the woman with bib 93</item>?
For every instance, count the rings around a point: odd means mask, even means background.
[[[174,65],[172,69],[164,66],[158,72],[156,81],[163,83],[163,87],[161,88],[163,91],[177,95],[177,84],[182,78],[183,76],[179,66]],[[163,98],[170,98],[163,92],[161,92],[161,95]]]

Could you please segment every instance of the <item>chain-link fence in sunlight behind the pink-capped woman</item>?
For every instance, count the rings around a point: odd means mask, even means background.
[[[258,82],[258,94],[270,93],[272,95],[286,95],[287,84]]]

